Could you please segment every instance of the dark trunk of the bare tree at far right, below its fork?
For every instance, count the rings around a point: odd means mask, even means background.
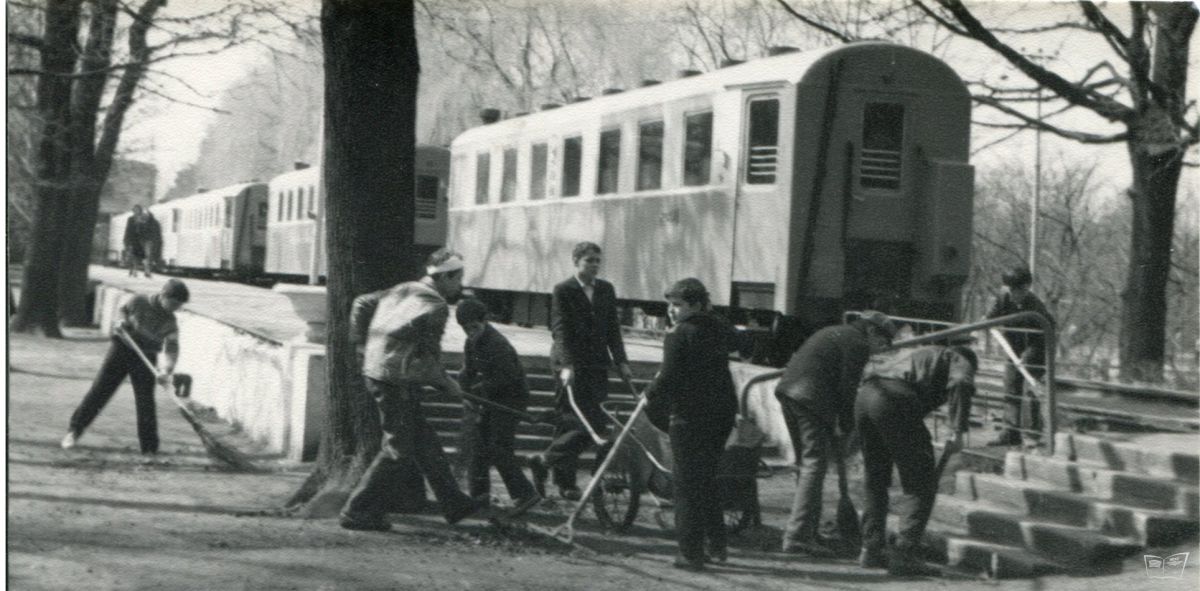
[[[1183,153],[1151,155],[1129,143],[1133,163],[1133,237],[1129,274],[1121,294],[1121,377],[1160,382],[1166,333],[1166,283],[1171,270],[1170,228]]]

